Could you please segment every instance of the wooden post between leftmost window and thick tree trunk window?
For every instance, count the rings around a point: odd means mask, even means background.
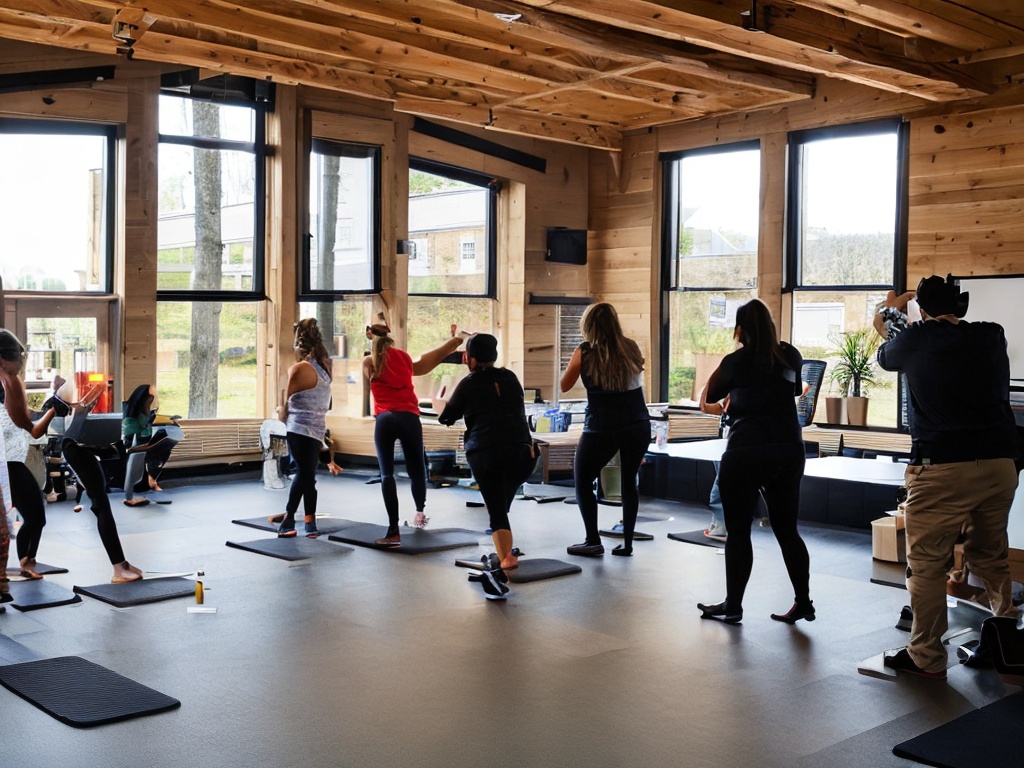
[[[132,80],[126,93],[123,219],[115,257],[115,291],[123,297],[118,329],[120,371],[114,372],[115,399],[139,384],[157,381],[157,216],[160,80]],[[114,361],[114,365],[118,365]],[[120,391],[120,394],[118,392]]]

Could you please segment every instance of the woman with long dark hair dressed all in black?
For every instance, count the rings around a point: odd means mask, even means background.
[[[734,335],[742,346],[726,355],[708,381],[709,400],[729,398],[729,442],[718,476],[729,531],[726,597],[720,603],[697,603],[697,608],[701,618],[727,624],[742,620],[743,593],[754,565],[751,522],[760,496],[795,595],[788,611],[771,617],[786,624],[811,622],[810,557],[797,530],[804,475],[804,439],[797,419],[803,358],[798,349],[778,340],[771,313],[758,299],[736,311]]]

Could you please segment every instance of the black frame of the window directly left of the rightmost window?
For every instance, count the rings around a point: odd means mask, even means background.
[[[678,269],[678,259],[675,254],[679,247],[679,190],[681,181],[681,162],[684,158],[698,157],[702,155],[723,155],[733,152],[748,152],[757,150],[759,153],[759,163],[763,162],[763,148],[761,139],[749,139],[744,141],[734,141],[728,144],[714,146],[700,146],[692,150],[681,150],[678,152],[662,153],[658,160],[662,162],[662,291],[660,291],[660,323],[659,335],[662,343],[658,349],[658,400],[665,402],[669,397],[669,377],[671,374],[672,350],[669,348],[669,341],[672,338],[672,328],[670,323],[669,298],[673,293],[725,293],[734,291],[758,290],[757,285],[751,289],[750,286],[729,287],[710,286],[700,288],[687,288],[680,286]],[[758,222],[760,230],[761,222]]]

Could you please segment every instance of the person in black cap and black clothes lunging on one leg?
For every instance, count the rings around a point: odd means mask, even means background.
[[[465,357],[470,374],[459,382],[437,421],[452,425],[466,420],[466,461],[487,507],[498,560],[488,562],[497,567],[487,567],[476,581],[488,598],[503,599],[509,591],[505,586],[508,571],[519,567],[512,547],[509,509],[536,459],[522,385],[514,373],[495,367],[498,340],[490,334],[470,337]]]

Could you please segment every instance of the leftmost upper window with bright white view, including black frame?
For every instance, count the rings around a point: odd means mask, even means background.
[[[115,129],[0,118],[7,291],[111,292]]]

